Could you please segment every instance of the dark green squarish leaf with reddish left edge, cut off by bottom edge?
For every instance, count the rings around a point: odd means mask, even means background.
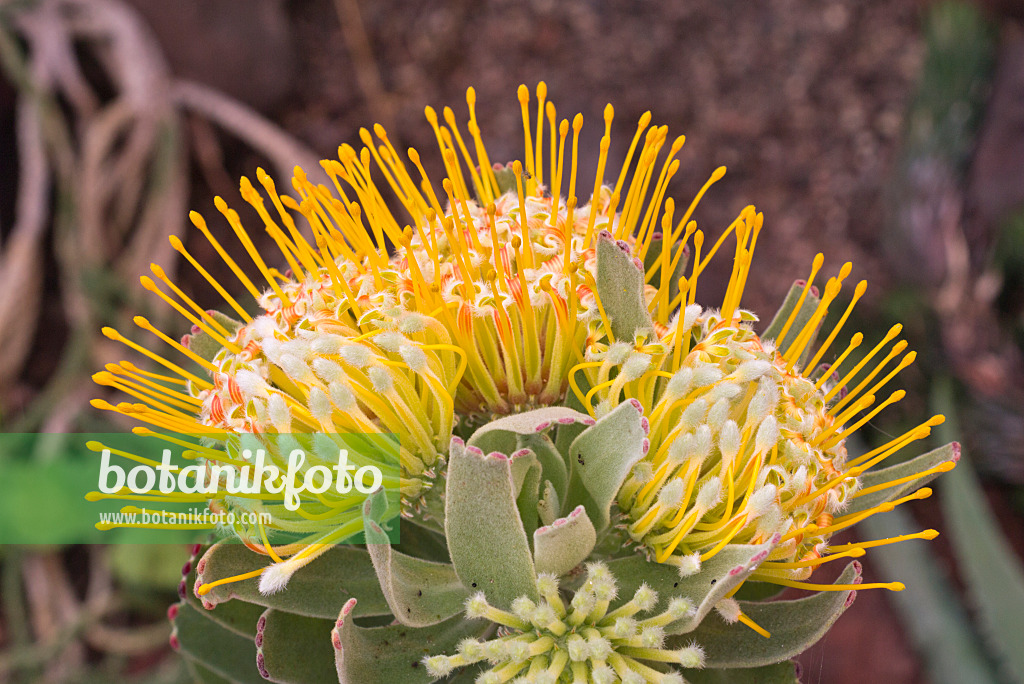
[[[333,681],[333,627],[329,619],[268,608],[257,625],[256,667],[265,679],[281,684]]]

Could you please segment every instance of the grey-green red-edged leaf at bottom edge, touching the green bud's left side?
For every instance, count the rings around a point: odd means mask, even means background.
[[[331,633],[339,684],[435,681],[423,666],[424,657],[455,653],[460,641],[481,637],[490,627],[485,621],[457,616],[433,627],[361,628],[351,618],[355,607],[355,599],[345,604]]]

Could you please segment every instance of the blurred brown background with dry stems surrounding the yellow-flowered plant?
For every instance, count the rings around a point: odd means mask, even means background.
[[[1024,682],[1022,20],[1020,0],[0,0],[0,431],[122,427],[88,403],[122,355],[99,330],[174,320],[137,277],[177,271],[169,234],[211,257],[187,211],[241,204],[239,176],[262,166],[280,187],[374,122],[437,171],[423,108],[464,119],[471,85],[492,158],[511,160],[515,89],[544,80],[588,122],[584,169],[609,101],[612,159],[647,110],[688,136],[672,196],[728,167],[695,218],[717,233],[764,211],[745,306],[773,311],[819,251],[829,273],[853,261],[859,329],[901,322],[919,351],[908,398],[864,432],[931,411],[949,418],[934,445],[964,442],[936,496],[858,526],[942,536],[868,554],[868,582],[907,591],[860,592],[803,681]],[[37,446],[17,458],[56,453]],[[61,510],[59,490],[20,495]],[[164,616],[187,556],[0,547],[0,682],[187,681]]]

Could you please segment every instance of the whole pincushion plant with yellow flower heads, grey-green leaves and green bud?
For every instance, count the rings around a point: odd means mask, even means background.
[[[667,190],[684,138],[670,142],[649,113],[611,175],[608,105],[597,169],[585,175],[583,117],[559,122],[544,84],[536,109],[524,86],[518,99],[523,154],[507,164],[488,156],[470,89],[466,134],[451,109],[426,110],[439,182],[380,126],[323,162],[330,185],[301,170],[291,195],[262,171],[261,190],[244,178],[272,254],[219,198],[239,249],[193,214],[257,304],[242,305],[172,239],[225,313],[154,267],[143,286],[191,333],[178,342],[136,323],[198,369],[104,331],[163,370],[109,367],[96,380],[140,402],[96,405],[191,445],[210,468],[239,464],[240,435],[397,439],[398,548],[376,497],[361,517],[330,496],[297,512],[269,494],[211,498],[211,508],[275,513],[267,528],[236,527],[244,547],[214,545],[186,566],[212,615],[231,599],[267,607],[255,638],[265,677],[301,680],[290,678],[299,665],[286,657],[289,640],[316,633],[308,621],[337,618],[342,682],[679,682],[699,667],[783,661],[855,588],[902,587],[860,584],[856,561],[836,584],[807,582],[822,563],[900,541],[830,545],[858,520],[927,497],[919,487],[958,454],[947,445],[878,467],[941,417],[849,453],[851,435],[903,397],[890,385],[914,357],[899,327],[867,336],[866,353],[865,335],[847,337],[866,287],[843,298],[852,265],[819,290],[818,255],[762,327],[741,299],[764,217],[748,207],[714,241],[693,219],[724,169],[677,208]],[[708,305],[700,275],[727,250],[725,297]],[[365,545],[333,546],[355,527]],[[281,532],[288,543],[272,543]],[[819,593],[750,602],[746,583]],[[173,643],[223,674],[201,652],[197,630],[209,626],[179,615],[190,601],[174,610]]]

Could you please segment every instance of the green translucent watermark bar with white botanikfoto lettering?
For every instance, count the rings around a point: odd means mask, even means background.
[[[0,544],[397,543],[400,484],[389,433],[0,434]]]

